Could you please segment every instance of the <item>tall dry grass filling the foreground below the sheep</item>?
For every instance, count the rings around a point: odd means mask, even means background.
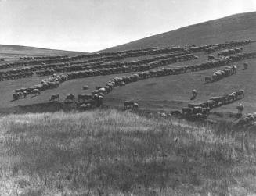
[[[253,195],[254,142],[111,109],[3,116],[0,195]]]

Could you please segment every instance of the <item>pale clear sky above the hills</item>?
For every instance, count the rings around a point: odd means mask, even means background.
[[[256,0],[0,0],[0,44],[96,52],[252,11]]]

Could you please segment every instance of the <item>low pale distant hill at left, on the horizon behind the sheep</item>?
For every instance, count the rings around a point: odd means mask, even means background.
[[[0,56],[10,58],[15,56],[24,56],[24,55],[79,55],[85,54],[85,52],[72,52],[72,51],[63,51],[63,50],[53,50],[46,48],[34,48],[29,46],[21,45],[0,45]]]

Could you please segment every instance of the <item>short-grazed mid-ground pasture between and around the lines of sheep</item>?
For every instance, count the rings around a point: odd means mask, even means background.
[[[244,46],[244,52],[254,51],[256,51],[255,42]],[[168,66],[160,67],[191,66],[207,61],[208,55],[204,52],[196,52],[194,55],[197,55],[199,59],[193,59],[186,62],[175,62]],[[214,52],[212,55],[217,56],[217,52]],[[155,56],[156,55],[142,55],[140,57],[134,58],[128,57],[123,61],[150,59]],[[243,70],[243,61],[235,62],[233,64],[236,64],[238,67],[236,74],[211,84],[204,84],[204,77],[211,75],[215,70],[218,70],[219,68],[139,80],[138,82],[127,84],[124,87],[114,88],[114,91],[106,95],[103,104],[123,108],[125,100],[134,100],[139,102],[139,107],[141,109],[150,109],[156,112],[168,112],[171,110],[181,110],[182,107],[186,107],[188,103],[204,102],[211,97],[229,94],[233,91],[244,89],[245,98],[240,100],[240,102],[242,102],[245,106],[246,113],[255,112],[256,91],[254,91],[254,84],[256,83],[256,79],[254,79],[254,75],[256,68],[254,64],[256,60],[248,59],[247,62],[250,65],[248,69]],[[40,81],[47,78],[48,76],[1,81],[0,88],[2,99],[0,101],[0,109],[2,109],[2,111],[4,109],[4,111],[9,110],[12,112],[14,110],[11,108],[15,106],[47,103],[49,102],[49,98],[52,94],[59,94],[60,102],[63,102],[67,94],[90,94],[96,86],[104,86],[108,80],[114,77],[121,77],[129,74],[132,73],[118,73],[106,76],[85,77],[74,80],[67,80],[63,84],[60,84],[57,88],[42,91],[40,96],[32,97],[29,95],[27,98],[21,98],[16,101],[13,101],[12,98],[14,89],[40,84]],[[82,90],[84,85],[88,85],[88,90]],[[195,100],[190,101],[189,98],[193,89],[197,89],[198,96]],[[218,109],[214,109],[213,112],[237,112],[237,104],[238,102],[224,105]]]

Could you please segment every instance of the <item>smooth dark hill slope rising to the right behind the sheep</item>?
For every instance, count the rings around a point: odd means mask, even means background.
[[[222,19],[182,27],[157,34],[104,51],[117,52],[129,49],[166,47],[172,45],[206,45],[236,39],[256,39],[256,12],[240,13]]]

